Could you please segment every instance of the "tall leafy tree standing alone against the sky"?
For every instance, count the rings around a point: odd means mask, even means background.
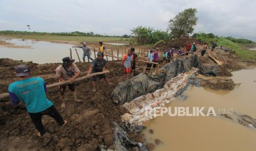
[[[198,21],[195,13],[197,13],[196,8],[188,8],[176,15],[175,18],[170,19],[168,30],[171,31],[171,35],[180,37],[181,35],[192,33]]]

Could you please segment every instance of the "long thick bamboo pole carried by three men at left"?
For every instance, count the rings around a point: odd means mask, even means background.
[[[84,79],[88,79],[88,78],[91,78],[95,75],[101,75],[101,74],[105,74],[105,73],[109,73],[110,71],[103,71],[103,72],[96,72],[96,73],[91,73],[89,75],[85,75],[84,77],[79,77],[79,78],[76,78],[74,80],[74,82],[78,82],[80,80],[84,80]],[[63,84],[68,84],[69,82],[66,80],[64,82],[58,82],[58,83],[53,83],[53,84],[49,84],[47,85],[47,88],[53,88],[55,86],[59,86],[59,85],[63,85]],[[6,98],[8,97],[9,94],[8,93],[4,93],[4,94],[0,94],[0,99],[3,99],[3,98]]]

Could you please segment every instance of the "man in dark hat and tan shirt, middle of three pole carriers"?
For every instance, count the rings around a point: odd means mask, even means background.
[[[63,63],[62,65],[59,65],[56,68],[56,75],[59,79],[59,82],[64,82],[64,80],[68,80],[69,84],[63,84],[59,86],[59,91],[61,92],[61,107],[66,108],[66,104],[64,101],[64,93],[66,90],[66,87],[68,86],[68,89],[72,91],[74,100],[77,102],[80,102],[81,100],[77,99],[77,92],[75,91],[75,83],[74,80],[77,78],[80,74],[80,71],[74,63],[74,59],[70,59],[70,57],[64,57],[62,59]]]

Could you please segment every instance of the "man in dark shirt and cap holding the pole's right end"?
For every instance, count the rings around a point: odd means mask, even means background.
[[[104,57],[103,52],[99,51],[97,53],[97,58],[91,62],[91,66],[89,68],[88,75],[91,73],[102,72],[102,71],[106,70],[106,62],[107,61],[103,57]],[[107,84],[112,84],[112,83],[108,82],[105,74],[94,76],[91,78],[92,79],[92,89],[94,92],[96,92],[97,78],[100,78],[100,79],[103,78]]]

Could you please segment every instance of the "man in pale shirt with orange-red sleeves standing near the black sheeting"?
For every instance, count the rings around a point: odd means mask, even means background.
[[[122,65],[124,67],[124,73],[126,74],[126,79],[128,79],[130,75],[131,67],[133,65],[133,54],[130,49],[127,51],[127,54],[124,55],[122,60]]]

